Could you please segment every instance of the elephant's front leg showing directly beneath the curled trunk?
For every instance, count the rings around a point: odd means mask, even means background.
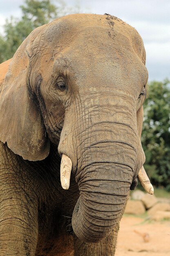
[[[86,243],[74,236],[74,256],[114,256],[119,223],[105,239],[98,243]]]

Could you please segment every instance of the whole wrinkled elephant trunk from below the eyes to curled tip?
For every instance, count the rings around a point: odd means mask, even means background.
[[[75,112],[74,124],[78,129],[74,134],[68,125],[73,123],[71,110],[67,110],[58,146],[59,153],[72,160],[80,191],[72,227],[78,238],[89,243],[107,237],[119,222],[130,185],[145,162],[136,115],[130,112],[128,104],[122,105],[124,99],[121,103],[121,98],[112,98],[86,100],[87,110],[78,108],[81,112]],[[132,110],[136,110],[134,106]]]

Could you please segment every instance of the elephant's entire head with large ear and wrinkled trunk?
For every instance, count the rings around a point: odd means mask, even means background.
[[[9,66],[0,140],[30,161],[47,157],[50,141],[58,146],[67,158],[62,171],[72,169],[80,190],[72,225],[83,241],[110,234],[136,185],[147,80],[141,37],[110,15],[69,15],[38,27]]]

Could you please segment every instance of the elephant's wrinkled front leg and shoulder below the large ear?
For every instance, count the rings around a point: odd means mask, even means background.
[[[29,169],[4,145],[0,153],[0,256],[35,256],[38,199]]]

